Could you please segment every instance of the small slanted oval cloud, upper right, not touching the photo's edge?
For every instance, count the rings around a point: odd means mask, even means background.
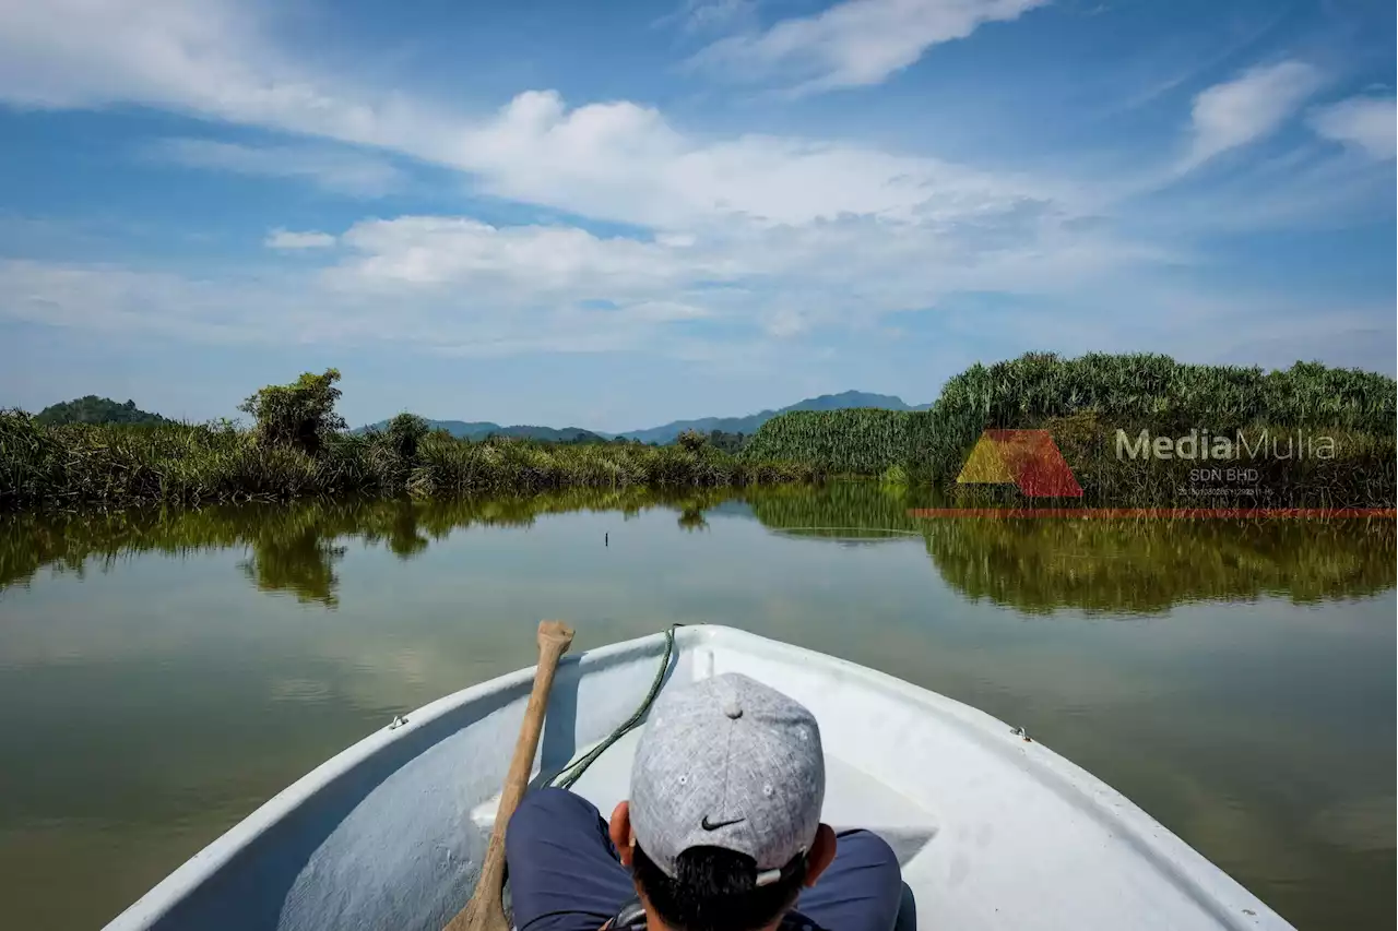
[[[1181,168],[1271,136],[1321,84],[1320,70],[1304,62],[1258,66],[1215,84],[1194,98],[1194,138]]]

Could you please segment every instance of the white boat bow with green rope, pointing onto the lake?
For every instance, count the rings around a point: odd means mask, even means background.
[[[1290,928],[1117,791],[973,707],[721,626],[679,628],[664,686],[745,672],[821,723],[825,821],[882,835],[900,928]],[[535,758],[542,784],[647,695],[667,636],[565,657]],[[316,767],[151,889],[109,931],[440,931],[470,899],[533,670],[464,689]],[[573,786],[626,794],[640,730]],[[907,895],[910,893],[910,895]]]

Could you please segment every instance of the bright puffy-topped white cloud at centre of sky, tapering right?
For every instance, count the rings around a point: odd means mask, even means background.
[[[973,215],[1055,196],[1025,179],[853,144],[770,136],[700,143],[658,110],[629,102],[569,110],[552,91],[519,95],[463,134],[449,158],[502,197],[663,228]]]

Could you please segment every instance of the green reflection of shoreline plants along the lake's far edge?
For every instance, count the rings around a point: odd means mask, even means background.
[[[665,495],[646,489],[533,498],[312,500],[291,506],[10,517],[0,523],[0,590],[41,568],[77,573],[134,554],[243,548],[253,584],[306,604],[338,604],[352,541],[412,559],[473,526],[528,526],[573,510],[668,509],[685,531],[742,516],[788,537],[868,545],[921,538],[939,576],[966,598],[1026,614],[1165,612],[1190,601],[1282,596],[1318,602],[1398,584],[1398,526],[1385,520],[925,520],[920,492],[868,484]]]

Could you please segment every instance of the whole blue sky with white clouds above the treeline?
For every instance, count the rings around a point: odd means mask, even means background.
[[[1390,0],[0,0],[0,404],[636,429],[1398,375]]]

